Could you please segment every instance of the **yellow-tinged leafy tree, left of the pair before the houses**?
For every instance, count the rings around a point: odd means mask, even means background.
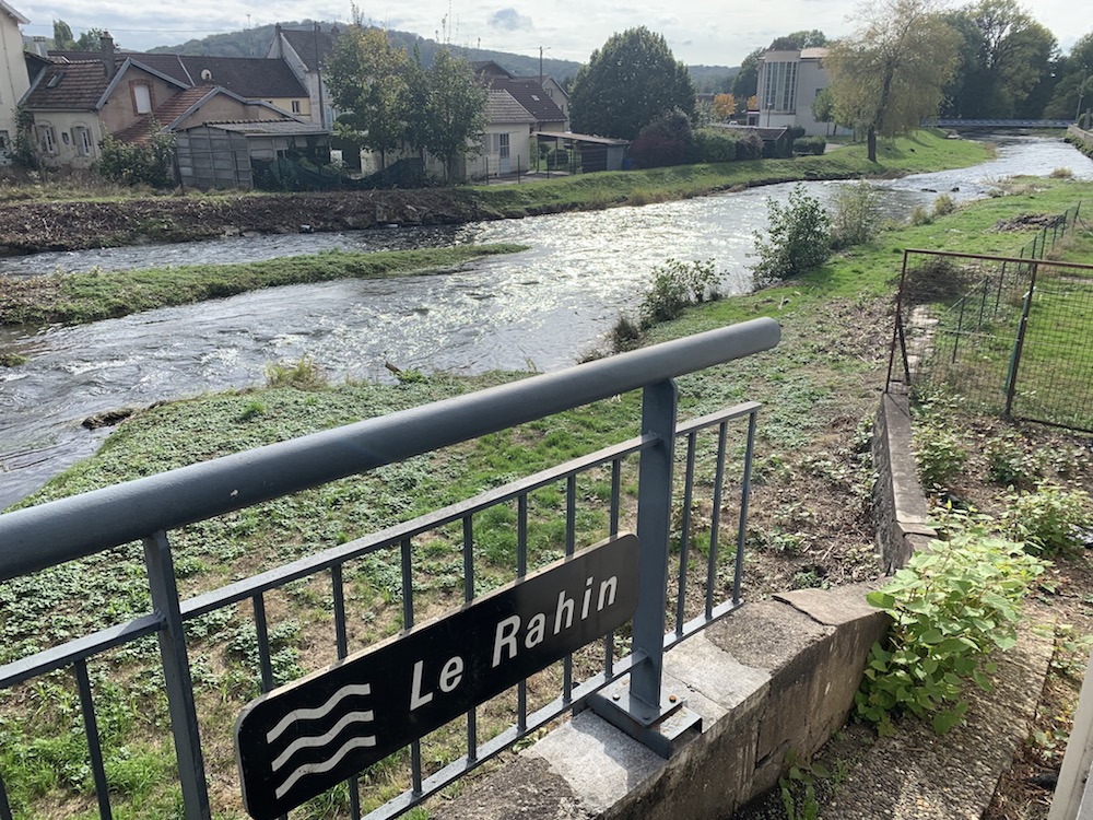
[[[338,38],[327,66],[331,102],[344,112],[339,131],[378,151],[381,168],[387,152],[406,136],[406,49],[395,49],[383,30],[366,27],[360,19]]]

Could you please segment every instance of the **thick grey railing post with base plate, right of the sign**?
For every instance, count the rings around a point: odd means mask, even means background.
[[[701,730],[702,718],[683,707],[674,693],[663,696],[665,607],[668,585],[668,541],[672,515],[672,470],[675,447],[675,383],[648,385],[643,391],[642,434],[658,443],[642,452],[638,466],[637,611],[633,623],[630,687],[615,683],[593,695],[589,705],[604,719],[668,758]],[[715,515],[717,513],[715,512]]]

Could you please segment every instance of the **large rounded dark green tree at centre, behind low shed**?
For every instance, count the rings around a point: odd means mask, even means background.
[[[592,51],[569,95],[575,130],[626,140],[673,108],[694,115],[694,83],[663,36],[645,26],[613,34]]]

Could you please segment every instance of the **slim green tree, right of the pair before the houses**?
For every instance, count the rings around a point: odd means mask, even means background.
[[[411,97],[423,101],[424,116],[414,133],[423,141],[421,148],[440,159],[451,181],[459,157],[482,153],[489,95],[471,65],[448,49],[434,55],[420,80],[424,87],[411,91]]]

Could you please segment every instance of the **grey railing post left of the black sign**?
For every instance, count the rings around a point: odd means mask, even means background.
[[[209,789],[201,755],[198,713],[193,704],[193,683],[190,680],[175,566],[166,532],[160,531],[144,539],[144,564],[148,567],[152,608],[164,621],[163,629],[158,632],[160,656],[163,659],[163,679],[167,690],[175,758],[178,761],[178,780],[183,786],[185,817],[186,820],[209,820]]]

